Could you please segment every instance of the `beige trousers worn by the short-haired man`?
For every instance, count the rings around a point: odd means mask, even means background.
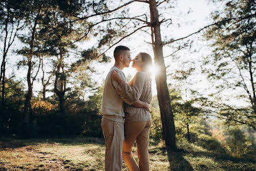
[[[106,139],[105,170],[121,171],[123,165],[122,148],[125,139],[123,123],[102,118],[101,125]]]

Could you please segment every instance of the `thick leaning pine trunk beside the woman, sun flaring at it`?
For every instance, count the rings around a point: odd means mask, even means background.
[[[155,0],[150,0],[150,20],[154,33],[154,61],[159,68],[158,75],[156,76],[157,85],[157,98],[160,107],[161,121],[162,121],[162,133],[165,140],[166,148],[169,151],[175,151],[176,138],[175,138],[175,126],[172,108],[170,106],[170,96],[166,83],[166,68],[164,63],[164,55],[162,52],[162,40],[161,40],[161,23],[158,20],[158,11]]]

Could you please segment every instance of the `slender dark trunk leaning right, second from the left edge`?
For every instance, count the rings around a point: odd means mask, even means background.
[[[32,98],[32,81],[31,81],[31,71],[32,71],[32,57],[33,57],[33,50],[34,50],[34,39],[36,35],[36,27],[38,24],[38,20],[41,14],[41,9],[38,10],[37,17],[34,21],[34,26],[32,29],[32,37],[30,40],[30,49],[28,54],[28,74],[26,76],[27,82],[28,82],[28,93],[25,95],[25,104],[24,104],[24,122],[28,125],[32,122],[32,107],[31,107],[31,98]]]

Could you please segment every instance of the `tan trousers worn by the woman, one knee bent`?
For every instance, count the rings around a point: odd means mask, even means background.
[[[125,121],[125,141],[123,141],[123,159],[130,171],[149,170],[149,129],[151,121]],[[136,141],[139,166],[133,157],[133,145]]]

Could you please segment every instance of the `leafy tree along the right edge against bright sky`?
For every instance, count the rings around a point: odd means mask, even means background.
[[[256,129],[256,3],[249,0],[222,3],[223,10],[211,14],[216,24],[204,34],[211,41],[212,55],[205,57],[202,68],[218,90],[211,98],[214,102],[207,107],[211,114],[227,123]],[[230,94],[224,96],[227,92]],[[243,105],[231,105],[230,99],[241,100]]]

